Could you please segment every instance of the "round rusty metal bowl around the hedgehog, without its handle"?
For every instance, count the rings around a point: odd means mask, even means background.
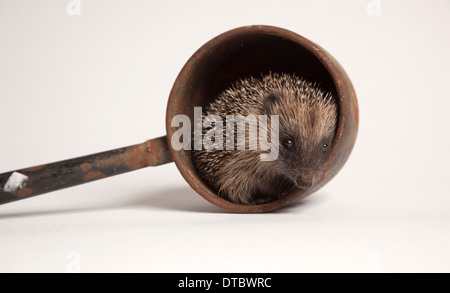
[[[190,151],[170,148],[173,160],[189,185],[206,200],[231,212],[270,212],[305,198],[339,172],[355,144],[358,104],[348,75],[320,46],[296,33],[271,26],[247,26],[228,31],[206,43],[189,59],[170,93],[166,115],[168,140],[176,131],[171,127],[175,115],[185,114],[193,119],[194,106],[207,105],[237,79],[268,71],[296,73],[319,82],[334,93],[339,106],[336,138],[327,171],[315,186],[263,205],[240,205],[217,196],[196,173]]]

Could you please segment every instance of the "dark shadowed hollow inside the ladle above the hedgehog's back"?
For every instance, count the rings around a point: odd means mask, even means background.
[[[310,51],[292,40],[263,32],[239,34],[217,44],[207,57],[198,60],[198,70],[185,82],[186,107],[206,106],[233,82],[272,72],[292,73],[318,83],[336,95],[330,73]]]

